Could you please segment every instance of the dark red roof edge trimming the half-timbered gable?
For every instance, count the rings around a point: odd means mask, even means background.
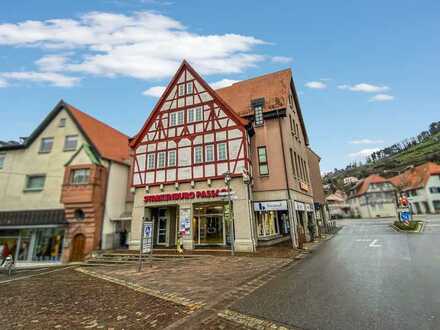
[[[150,127],[150,125],[153,122],[153,119],[155,118],[157,112],[163,105],[163,103],[166,100],[166,97],[170,93],[173,86],[177,83],[177,80],[179,79],[180,75],[184,70],[188,70],[188,72],[191,73],[191,75],[199,81],[200,84],[206,89],[206,91],[211,94],[213,98],[216,99],[216,101],[223,107],[223,110],[228,113],[235,121],[243,126],[248,124],[248,120],[241,118],[232,108],[231,106],[226,103],[222,97],[219,96],[219,94],[213,90],[208,83],[193,69],[193,67],[186,61],[183,60],[182,64],[180,64],[179,69],[177,69],[177,72],[174,74],[171,81],[168,83],[167,88],[162,93],[162,96],[160,97],[159,101],[157,101],[156,105],[154,106],[153,110],[151,111],[150,115],[148,116],[148,119],[146,120],[144,126],[142,129],[130,140],[130,146],[132,148],[136,147],[143,137],[145,136],[145,133],[147,132],[147,129]]]

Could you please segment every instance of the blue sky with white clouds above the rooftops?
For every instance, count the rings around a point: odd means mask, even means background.
[[[0,140],[63,99],[134,135],[182,59],[214,87],[293,70],[323,172],[440,120],[439,1],[0,4]]]

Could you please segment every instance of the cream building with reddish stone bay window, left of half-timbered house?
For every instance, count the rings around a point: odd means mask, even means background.
[[[22,143],[0,147],[0,244],[18,262],[105,246],[125,210],[128,159],[127,136],[59,102]]]

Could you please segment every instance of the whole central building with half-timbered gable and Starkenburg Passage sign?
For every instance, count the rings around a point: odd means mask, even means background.
[[[314,224],[307,146],[290,70],[215,91],[184,61],[131,141],[130,248],[142,219],[156,247],[297,245]]]

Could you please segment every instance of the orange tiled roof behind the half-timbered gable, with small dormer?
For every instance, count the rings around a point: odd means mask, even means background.
[[[292,90],[306,145],[309,144],[301,107],[292,78],[292,70],[285,69],[259,77],[242,80],[231,86],[217,89],[217,93],[242,117],[253,115],[251,101],[264,98],[263,112],[285,109],[289,90]]]

